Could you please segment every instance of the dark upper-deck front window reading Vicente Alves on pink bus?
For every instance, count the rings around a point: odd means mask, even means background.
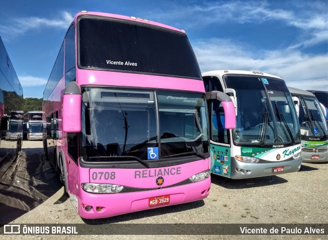
[[[198,78],[201,74],[187,35],[114,18],[80,17],[80,68]]]

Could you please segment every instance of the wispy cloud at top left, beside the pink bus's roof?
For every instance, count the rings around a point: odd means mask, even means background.
[[[22,35],[30,30],[37,30],[44,27],[67,29],[73,20],[73,15],[69,12],[61,12],[60,16],[54,19],[40,17],[18,17],[12,19],[9,26],[0,25],[0,33],[6,35]]]

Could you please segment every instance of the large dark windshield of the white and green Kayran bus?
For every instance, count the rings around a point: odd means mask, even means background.
[[[300,140],[293,101],[282,80],[230,75],[224,80],[236,90],[236,143],[263,146]]]

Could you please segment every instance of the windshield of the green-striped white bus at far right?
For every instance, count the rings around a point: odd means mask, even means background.
[[[302,97],[301,104],[299,108],[299,123],[302,136],[324,136],[326,138],[328,135],[326,120],[317,99]]]

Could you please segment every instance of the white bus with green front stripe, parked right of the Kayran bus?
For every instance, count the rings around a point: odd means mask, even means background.
[[[292,87],[288,89],[293,96],[301,127],[302,161],[328,162],[328,130],[321,104],[309,91]]]

